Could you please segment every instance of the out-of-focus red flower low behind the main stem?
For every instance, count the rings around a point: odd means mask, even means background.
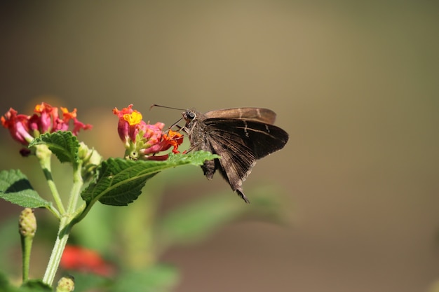
[[[80,246],[65,246],[62,253],[60,266],[66,270],[92,272],[109,277],[114,274],[114,265],[108,263],[99,253]]]

